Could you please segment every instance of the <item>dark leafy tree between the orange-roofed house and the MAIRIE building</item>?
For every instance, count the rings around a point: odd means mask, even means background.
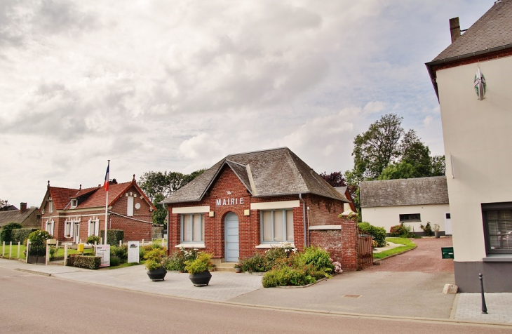
[[[205,171],[206,169],[199,169],[190,174],[149,171],[140,177],[140,188],[144,190],[149,200],[156,206],[156,211],[153,213],[153,224],[161,225],[166,219],[167,211],[159,202]]]

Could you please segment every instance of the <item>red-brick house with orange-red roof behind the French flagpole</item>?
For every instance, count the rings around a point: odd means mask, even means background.
[[[107,229],[122,229],[125,241],[151,240],[152,212],[156,210],[135,182],[109,181]],[[105,187],[69,189],[48,181],[41,203],[41,228],[62,242],[85,242],[105,231]]]

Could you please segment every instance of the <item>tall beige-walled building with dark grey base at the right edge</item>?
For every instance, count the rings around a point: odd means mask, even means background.
[[[455,283],[512,292],[512,0],[492,8],[426,67],[439,99]]]

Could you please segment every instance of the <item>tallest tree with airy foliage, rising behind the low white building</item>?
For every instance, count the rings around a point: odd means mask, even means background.
[[[400,155],[398,142],[403,134],[403,117],[385,114],[370,125],[368,131],[353,140],[353,173],[358,177],[375,180]]]

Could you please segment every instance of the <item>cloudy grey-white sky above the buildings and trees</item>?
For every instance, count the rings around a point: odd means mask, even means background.
[[[287,146],[318,173],[389,112],[444,154],[424,63],[493,0],[0,1],[0,199]]]

